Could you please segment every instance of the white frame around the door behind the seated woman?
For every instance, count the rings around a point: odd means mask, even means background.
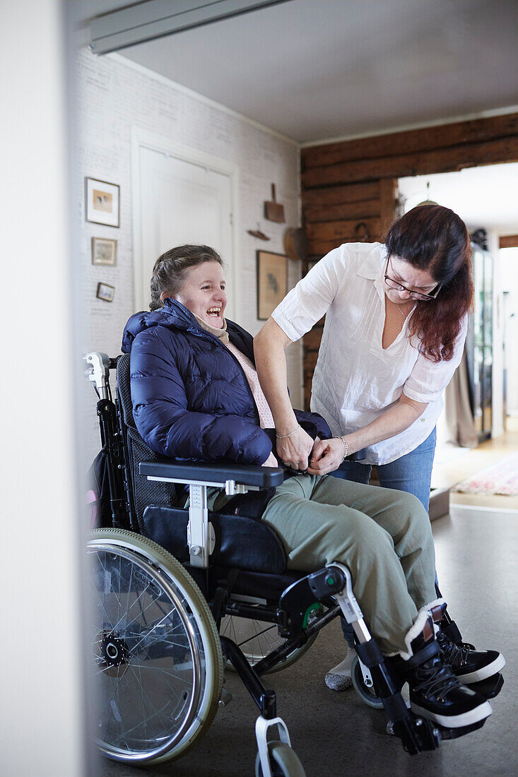
[[[141,148],[151,149],[159,152],[166,157],[180,159],[182,162],[189,162],[192,165],[205,167],[206,169],[219,172],[230,179],[230,197],[231,214],[230,229],[232,232],[231,251],[232,256],[224,256],[223,261],[232,274],[232,284],[229,297],[229,303],[233,310],[233,318],[240,319],[238,310],[238,301],[236,287],[240,278],[240,251],[239,251],[239,183],[240,169],[233,162],[221,159],[214,154],[199,151],[198,148],[191,148],[165,135],[156,134],[140,127],[131,127],[131,215],[132,215],[132,233],[133,233],[133,301],[135,310],[141,305],[142,298],[149,290],[142,287],[142,230],[140,213],[140,150]],[[228,287],[227,287],[228,288]]]

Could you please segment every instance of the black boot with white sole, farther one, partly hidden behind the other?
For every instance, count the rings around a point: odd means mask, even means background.
[[[442,630],[443,624],[446,625],[443,619],[445,610],[446,603],[436,605],[430,610],[433,622],[439,625],[437,642],[443,664],[450,666],[453,674],[464,685],[471,685],[471,683],[480,682],[498,674],[506,665],[506,659],[502,653],[499,653],[498,650],[475,650],[474,646],[469,643],[453,642],[453,639],[450,639]]]

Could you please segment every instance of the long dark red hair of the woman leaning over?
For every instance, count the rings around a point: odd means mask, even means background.
[[[449,207],[426,203],[394,221],[385,239],[389,256],[427,270],[443,284],[436,299],[418,301],[410,333],[432,361],[450,361],[462,319],[473,303],[471,243],[464,221]]]

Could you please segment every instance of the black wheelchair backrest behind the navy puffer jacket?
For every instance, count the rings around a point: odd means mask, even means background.
[[[127,451],[128,479],[138,527],[146,534],[142,515],[149,504],[159,507],[177,507],[177,492],[173,483],[149,481],[138,472],[140,462],[154,462],[159,456],[142,440],[133,417],[131,403],[130,355],[123,354],[117,361],[117,399],[120,407],[121,432]]]

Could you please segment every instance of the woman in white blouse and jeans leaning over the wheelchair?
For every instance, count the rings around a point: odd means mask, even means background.
[[[434,203],[395,221],[384,244],[345,243],[324,256],[254,340],[282,461],[298,466],[311,454],[309,472],[356,483],[369,483],[376,465],[381,486],[413,493],[428,510],[436,422],[472,298],[466,225]],[[333,439],[313,446],[292,413],[284,350],[324,315],[311,409]],[[352,644],[350,629],[345,636]],[[350,687],[349,662],[327,674],[330,688]]]

